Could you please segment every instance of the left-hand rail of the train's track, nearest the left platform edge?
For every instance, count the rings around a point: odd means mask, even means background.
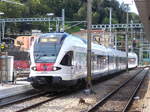
[[[36,97],[39,97],[39,96],[44,95],[46,93],[47,92],[44,91],[44,92],[32,94],[30,96],[23,96],[22,98],[19,98],[19,99],[14,98],[14,100],[11,100],[10,98],[15,97],[15,96],[6,97],[6,98],[3,98],[3,99],[0,100],[0,102],[1,102],[0,103],[0,108],[2,108],[4,106],[7,106],[7,105],[10,105],[10,104],[14,104],[14,103],[18,103],[18,102],[21,102],[21,101],[24,101],[24,100],[28,100],[28,99],[31,99],[31,98],[36,98]],[[17,94],[17,96],[18,96],[18,94]],[[7,99],[8,99],[8,101],[7,101]],[[9,99],[10,99],[10,101],[9,101]],[[2,100],[6,100],[6,101],[4,101],[4,103],[2,103]]]

